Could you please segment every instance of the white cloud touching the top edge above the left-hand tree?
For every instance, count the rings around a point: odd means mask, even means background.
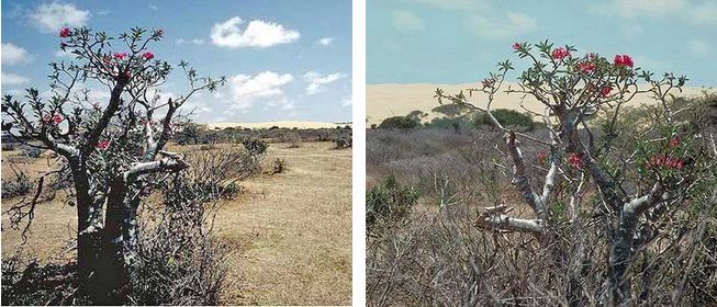
[[[90,11],[77,9],[71,3],[43,3],[30,14],[30,20],[42,32],[59,31],[63,26],[85,25],[90,18]]]

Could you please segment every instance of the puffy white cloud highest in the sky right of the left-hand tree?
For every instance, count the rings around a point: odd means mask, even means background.
[[[287,44],[299,39],[299,32],[284,29],[283,25],[260,20],[250,21],[246,29],[239,25],[245,22],[238,16],[216,23],[212,27],[212,43],[221,47],[257,47],[266,48],[278,44]]]

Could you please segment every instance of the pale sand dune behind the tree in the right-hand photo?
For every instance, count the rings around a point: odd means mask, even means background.
[[[386,117],[406,115],[411,111],[419,110],[425,113],[428,113],[428,116],[425,121],[430,121],[436,116],[442,116],[432,112],[432,110],[438,106],[438,102],[434,99],[434,92],[436,88],[444,89],[446,94],[458,93],[460,90],[468,88],[474,88],[474,83],[463,83],[463,84],[430,84],[430,83],[412,83],[412,84],[397,84],[397,83],[385,83],[385,84],[369,84],[366,87],[366,104],[367,104],[367,120],[368,125],[381,123]],[[504,84],[504,89],[507,89]],[[515,87],[515,86],[514,86]],[[715,88],[708,89],[709,91],[715,91]],[[681,95],[693,96],[702,94],[703,88],[684,88]],[[677,91],[674,91],[676,94]],[[506,94],[501,92],[495,95],[493,101],[493,109],[513,109],[518,111],[524,111],[520,106],[519,94]],[[483,106],[486,96],[482,93],[475,93],[469,101],[475,103],[477,105]],[[650,99],[647,94],[641,94],[636,96],[630,103],[636,105],[640,103],[649,103],[654,100]],[[526,96],[523,100],[523,106],[527,110],[534,112],[542,113],[542,104],[540,104],[533,96]]]

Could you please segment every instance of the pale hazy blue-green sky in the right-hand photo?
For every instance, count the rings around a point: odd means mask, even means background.
[[[367,81],[473,82],[546,38],[717,86],[714,0],[367,0]]]

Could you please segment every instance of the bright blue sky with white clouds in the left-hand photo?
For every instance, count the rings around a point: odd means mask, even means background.
[[[158,58],[226,76],[216,94],[189,102],[199,122],[351,120],[350,1],[2,0],[3,94],[46,91],[47,62],[72,59],[58,52],[57,32],[79,25],[163,29],[165,39],[152,46]],[[188,87],[176,70],[161,90],[179,95]]]

